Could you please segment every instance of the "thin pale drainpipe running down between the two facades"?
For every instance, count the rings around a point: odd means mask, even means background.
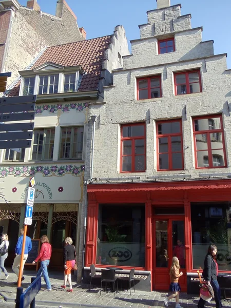
[[[95,133],[95,123],[98,120],[98,116],[92,115],[91,120],[93,121],[93,132],[92,132],[92,148],[91,148],[91,169],[90,169],[90,178],[84,181],[84,185],[88,185],[93,177],[93,163],[94,163],[94,133]],[[83,237],[83,255],[82,255],[82,268],[84,268],[84,259],[85,259],[85,244],[86,244],[86,230],[87,230],[87,197],[84,207],[84,237]],[[83,277],[83,272],[82,272]]]

